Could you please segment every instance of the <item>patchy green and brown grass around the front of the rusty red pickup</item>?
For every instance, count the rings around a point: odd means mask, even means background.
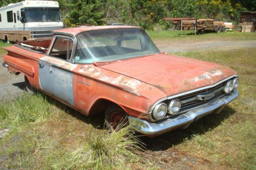
[[[129,129],[109,134],[99,127],[102,117],[83,116],[44,94],[2,102],[0,130],[10,131],[0,139],[0,169],[255,169],[255,54],[256,48],[177,53],[236,70],[240,96],[185,130],[140,138],[148,151]]]

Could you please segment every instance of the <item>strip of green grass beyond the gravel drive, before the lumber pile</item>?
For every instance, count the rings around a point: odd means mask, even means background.
[[[194,31],[147,31],[153,41],[164,40],[256,40],[255,33],[227,31],[225,33],[205,33],[194,35]]]

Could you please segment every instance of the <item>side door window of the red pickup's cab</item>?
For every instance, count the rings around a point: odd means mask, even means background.
[[[72,54],[72,48],[72,39],[68,37],[57,37],[50,52],[50,56],[69,61]]]

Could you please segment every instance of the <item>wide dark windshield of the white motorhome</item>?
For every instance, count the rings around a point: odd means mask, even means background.
[[[25,8],[27,22],[61,21],[59,8]]]

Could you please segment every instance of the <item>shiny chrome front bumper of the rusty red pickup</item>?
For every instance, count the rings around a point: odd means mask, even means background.
[[[206,116],[209,113],[220,112],[228,103],[237,97],[238,91],[233,90],[231,93],[225,95],[221,99],[199,106],[195,109],[189,110],[187,113],[178,115],[176,117],[170,117],[156,123],[149,123],[146,120],[129,116],[129,124],[135,131],[148,136],[160,135],[167,131],[175,130],[178,128],[185,129],[191,123],[195,122],[203,116]]]

